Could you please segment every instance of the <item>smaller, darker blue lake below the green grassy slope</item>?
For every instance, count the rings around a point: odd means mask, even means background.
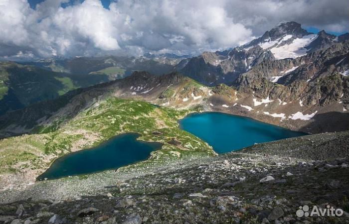
[[[37,180],[94,173],[116,169],[149,157],[162,143],[138,141],[140,134],[118,135],[97,147],[70,153],[56,159]]]

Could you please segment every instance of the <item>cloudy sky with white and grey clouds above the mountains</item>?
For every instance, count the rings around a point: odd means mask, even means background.
[[[284,21],[349,30],[348,0],[0,0],[0,60],[198,54]]]

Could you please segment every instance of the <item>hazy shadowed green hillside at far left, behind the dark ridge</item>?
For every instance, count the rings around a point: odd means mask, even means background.
[[[58,73],[13,62],[0,63],[0,114],[57,98],[70,90],[107,82],[105,75]]]

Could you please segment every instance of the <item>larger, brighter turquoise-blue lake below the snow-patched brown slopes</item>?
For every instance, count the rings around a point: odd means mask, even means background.
[[[210,144],[217,153],[231,152],[254,143],[305,135],[248,117],[220,112],[193,113],[179,121],[180,127]]]

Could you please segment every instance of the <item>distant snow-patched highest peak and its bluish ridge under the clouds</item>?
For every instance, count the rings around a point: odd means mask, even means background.
[[[325,31],[313,34],[303,29],[299,23],[285,22],[232,50],[205,52],[198,57],[185,59],[176,69],[208,86],[220,83],[231,85],[239,75],[262,62],[297,59],[346,40],[348,34],[338,37]]]

